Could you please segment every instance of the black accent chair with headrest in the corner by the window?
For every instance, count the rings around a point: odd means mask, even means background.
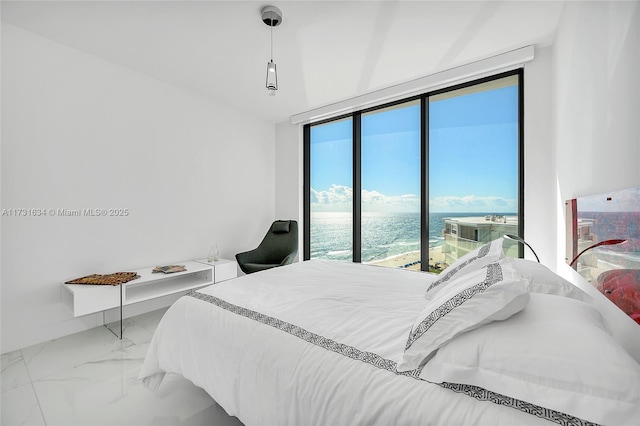
[[[298,222],[276,220],[271,224],[260,245],[236,254],[242,272],[251,274],[276,266],[288,265],[298,253]]]

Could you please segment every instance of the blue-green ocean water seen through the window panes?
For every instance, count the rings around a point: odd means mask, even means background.
[[[485,213],[432,213],[429,247],[443,244],[444,219],[484,216]],[[420,250],[420,213],[363,213],[362,261],[372,262]],[[351,260],[351,213],[315,212],[311,215],[311,258]]]

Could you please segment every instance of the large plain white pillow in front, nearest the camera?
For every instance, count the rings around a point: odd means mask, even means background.
[[[591,305],[532,293],[507,321],[465,333],[426,364],[431,382],[479,386],[605,425],[640,419],[640,364]]]

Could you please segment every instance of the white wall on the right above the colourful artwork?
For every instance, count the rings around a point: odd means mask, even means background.
[[[640,186],[640,4],[566,3],[553,75],[561,217],[565,200]],[[564,247],[560,219],[561,262]]]

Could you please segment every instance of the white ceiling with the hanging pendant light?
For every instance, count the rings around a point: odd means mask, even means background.
[[[267,96],[269,27],[279,90]],[[560,1],[2,1],[2,21],[270,122],[529,44]]]

